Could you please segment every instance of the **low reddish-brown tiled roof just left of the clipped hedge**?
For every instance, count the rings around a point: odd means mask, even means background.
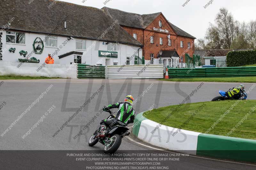
[[[200,55],[201,57],[222,57],[227,56],[230,51],[234,51],[234,49],[196,50],[195,55]]]

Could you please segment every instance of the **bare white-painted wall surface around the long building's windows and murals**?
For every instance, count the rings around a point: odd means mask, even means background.
[[[33,43],[37,37],[40,37],[42,40],[45,39],[45,34],[36,34],[36,33],[25,33],[25,45],[20,44],[9,44],[6,43],[6,31],[3,31],[2,35],[2,42],[3,42],[3,62],[19,62],[19,58],[25,58],[23,55],[20,55],[19,52],[21,50],[27,51],[28,55],[31,53],[33,49]],[[40,63],[44,63],[45,58],[48,56],[48,53],[52,54],[55,63],[54,64],[70,64],[70,62],[74,62],[73,56],[67,56],[64,58],[59,59],[59,55],[68,53],[70,51],[78,51],[78,52],[84,52],[84,55],[82,56],[82,63],[86,62],[86,64],[94,65],[98,61],[100,64],[105,65],[105,59],[103,57],[99,57],[99,50],[107,51],[107,45],[106,42],[103,45],[103,41],[97,41],[97,43],[92,46],[92,48],[89,48],[94,40],[86,40],[86,49],[85,50],[76,50],[76,39],[70,40],[67,42],[68,37],[64,36],[58,36],[57,41],[57,47],[46,47],[44,42],[44,51],[42,54],[32,54],[31,57],[36,57],[40,60]],[[67,44],[63,44],[64,41],[67,42]],[[62,47],[62,48],[61,48]],[[15,53],[9,52],[10,48],[16,48]],[[113,65],[113,62],[118,63],[118,65],[122,65],[126,62],[126,57],[132,56],[136,51],[138,51],[140,47],[139,46],[133,46],[133,45],[126,45],[116,44],[116,51],[118,52],[118,58],[109,58],[110,64]],[[57,52],[58,51],[58,52]],[[27,55],[27,56],[28,56]],[[142,56],[142,51],[140,50],[140,56]],[[103,59],[102,59],[103,58]],[[63,60],[60,62],[60,60]],[[1,62],[1,61],[0,61]],[[134,57],[130,61],[130,64],[134,64]]]

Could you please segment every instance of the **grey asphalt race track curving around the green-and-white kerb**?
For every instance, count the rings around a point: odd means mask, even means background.
[[[70,82],[71,81],[71,82]],[[153,83],[153,84],[152,84]],[[108,113],[96,116],[85,133],[74,139],[78,131],[84,127],[99,110],[117,101],[124,100],[128,94],[136,99],[144,91],[134,108],[136,113],[148,110],[153,104],[156,107],[175,105],[182,102],[201,83],[163,82],[157,80],[4,80],[0,86],[0,103],[6,105],[0,110],[0,134],[21,115],[31,103],[50,86],[51,89],[39,100],[30,111],[17,122],[4,136],[0,136],[0,150],[100,150],[103,145],[88,146],[88,139],[99,127],[99,122],[107,118]],[[66,127],[55,137],[54,133],[73,115],[93,93],[104,85],[94,99],[78,113]],[[191,102],[211,101],[218,96],[219,90],[228,90],[239,83],[204,83],[191,98]],[[245,83],[246,89],[252,83]],[[248,99],[256,99],[256,90],[252,90]],[[190,102],[189,101],[189,102]],[[55,106],[31,134],[24,139],[22,136],[43,116],[49,108]],[[124,138],[117,153],[125,150],[152,150]],[[223,162],[197,157],[186,157],[171,162],[172,169],[255,169],[256,166]],[[0,168],[1,169],[1,168]]]

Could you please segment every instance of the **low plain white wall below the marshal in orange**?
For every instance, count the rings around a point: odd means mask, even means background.
[[[0,75],[76,79],[76,64],[39,64],[0,62]]]

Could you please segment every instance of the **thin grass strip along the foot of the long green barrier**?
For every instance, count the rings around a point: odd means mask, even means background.
[[[178,81],[178,82],[239,82],[239,83],[255,83],[256,77],[231,77],[231,78],[170,78],[158,79],[163,81]]]

